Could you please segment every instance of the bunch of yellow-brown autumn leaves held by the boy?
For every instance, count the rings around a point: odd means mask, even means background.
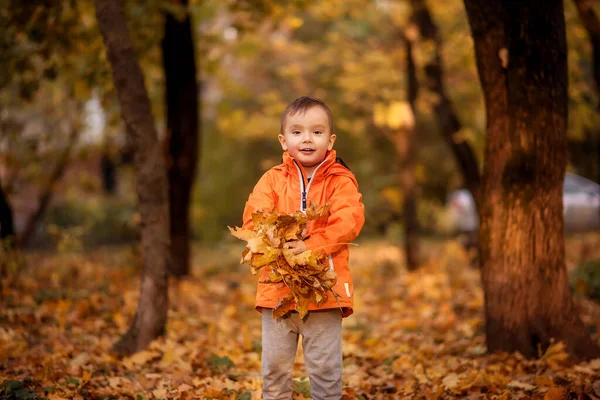
[[[312,250],[295,254],[284,247],[286,242],[303,240],[306,223],[325,217],[328,212],[328,204],[321,207],[311,204],[304,213],[295,214],[257,211],[252,214],[253,230],[229,227],[233,236],[247,242],[241,262],[249,264],[253,274],[267,267],[268,281],[263,283],[283,282],[290,289],[273,309],[273,318],[284,316],[292,305],[300,318],[304,318],[310,303],[323,304],[327,291],[336,295],[332,287],[337,276],[327,256]]]

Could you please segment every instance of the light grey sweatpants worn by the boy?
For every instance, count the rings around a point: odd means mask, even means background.
[[[342,313],[339,309],[310,311],[302,321],[298,313],[279,320],[273,310],[262,311],[263,399],[292,398],[292,371],[298,338],[314,400],[342,397]]]

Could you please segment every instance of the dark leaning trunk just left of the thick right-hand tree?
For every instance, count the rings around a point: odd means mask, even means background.
[[[411,3],[413,7],[412,20],[417,26],[422,40],[431,41],[434,44],[434,56],[429,57],[427,63],[423,66],[426,77],[424,87],[426,90],[437,95],[434,112],[438,120],[439,129],[454,154],[456,163],[462,173],[464,184],[471,191],[473,198],[477,202],[477,191],[480,182],[477,158],[468,142],[457,142],[455,138],[455,135],[462,129],[462,125],[454,111],[452,102],[446,95],[441,56],[442,43],[438,35],[438,30],[431,18],[425,0],[411,0]]]

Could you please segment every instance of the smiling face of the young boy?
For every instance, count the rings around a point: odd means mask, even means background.
[[[319,106],[288,115],[283,134],[279,135],[283,150],[300,162],[309,176],[325,159],[327,150],[333,148],[335,139],[327,113]]]

